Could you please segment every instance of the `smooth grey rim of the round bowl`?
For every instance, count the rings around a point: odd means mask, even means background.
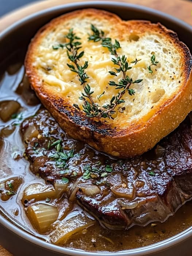
[[[98,5],[98,7],[97,7]],[[125,7],[129,9],[137,9],[139,11],[143,11],[148,14],[154,14],[158,17],[163,17],[166,20],[179,24],[182,27],[187,28],[190,33],[192,33],[192,26],[178,18],[175,18],[169,14],[165,14],[164,12],[157,11],[155,9],[145,7],[142,5],[136,5],[136,4],[130,4],[125,2],[117,2],[117,1],[82,1],[82,2],[76,2],[76,3],[67,3],[62,5],[57,5],[54,7],[50,7],[47,9],[43,9],[41,11],[35,12],[34,14],[28,15],[24,17],[23,19],[18,20],[11,26],[7,27],[5,30],[0,32],[0,40],[4,39],[8,34],[12,33],[16,28],[21,27],[24,23],[28,22],[29,20],[35,19],[37,17],[40,17],[45,14],[50,14],[51,12],[60,10],[60,9],[80,9],[80,8],[102,8],[105,6],[111,6],[111,7]],[[170,247],[173,247],[176,244],[179,244],[183,242],[184,240],[187,240],[188,238],[192,237],[192,226],[186,230],[184,230],[181,233],[176,234],[175,236],[172,236],[166,240],[147,245],[145,247],[139,247],[135,249],[128,249],[125,251],[118,251],[118,252],[88,252],[88,251],[81,251],[79,249],[70,249],[70,248],[64,248],[60,247],[58,245],[54,245],[51,243],[47,243],[46,241],[43,241],[31,234],[28,234],[27,232],[23,231],[22,229],[15,226],[13,223],[11,223],[9,220],[7,220],[3,215],[0,215],[0,224],[4,226],[4,228],[8,229],[9,231],[13,232],[19,237],[22,237],[24,240],[27,240],[28,242],[31,242],[41,248],[48,249],[53,252],[63,253],[65,255],[69,256],[104,256],[107,254],[107,256],[116,256],[118,253],[118,256],[145,256],[150,255],[152,253],[157,253],[160,251],[163,251],[165,249],[168,249]]]

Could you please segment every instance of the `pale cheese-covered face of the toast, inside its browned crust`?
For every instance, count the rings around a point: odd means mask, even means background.
[[[125,103],[120,107],[125,107],[124,112],[119,112],[116,108],[114,118],[125,115],[123,120],[124,126],[127,123],[137,120],[141,116],[147,121],[153,115],[152,108],[156,111],[156,106],[161,106],[172,93],[179,90],[179,83],[182,83],[182,69],[180,66],[181,55],[173,48],[172,42],[162,37],[161,34],[150,34],[149,31],[142,35],[130,33],[120,35],[119,31],[108,24],[100,23],[99,19],[91,22],[99,30],[103,30],[106,37],[117,39],[121,48],[117,50],[118,55],[125,55],[132,69],[127,71],[127,75],[134,80],[143,79],[139,84],[132,84],[135,95],[130,96],[128,92],[123,95]],[[112,96],[117,95],[121,89],[115,89],[108,83],[114,80],[118,83],[122,79],[122,72],[118,76],[111,76],[109,71],[115,71],[117,65],[111,61],[114,56],[110,51],[101,46],[101,42],[88,41],[89,34],[92,34],[90,22],[80,22],[79,18],[71,19],[65,26],[59,24],[53,30],[42,38],[41,45],[37,48],[37,53],[33,66],[38,71],[38,75],[46,83],[46,89],[50,92],[54,91],[62,98],[67,98],[71,105],[78,104],[82,109],[83,101],[79,99],[82,96],[83,88],[80,85],[79,77],[72,72],[67,63],[73,64],[66,52],[66,47],[53,49],[60,43],[66,43],[65,35],[69,33],[69,29],[73,28],[73,32],[81,38],[78,40],[82,43],[84,56],[78,62],[84,65],[88,61],[88,68],[85,72],[89,79],[87,83],[94,91],[92,98],[94,102],[100,106],[110,102]],[[147,66],[151,64],[151,54],[155,54],[157,66],[151,66],[153,73],[149,73]],[[135,58],[140,60],[137,64],[132,64]],[[47,71],[49,70],[49,71]],[[101,97],[98,97],[104,92]]]

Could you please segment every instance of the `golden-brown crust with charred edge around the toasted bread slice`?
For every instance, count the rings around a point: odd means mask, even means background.
[[[48,93],[43,87],[44,82],[32,65],[35,49],[41,43],[41,39],[45,36],[47,30],[51,30],[64,20],[79,15],[82,17],[85,15],[100,15],[101,19],[105,17],[114,24],[118,23],[120,34],[124,34],[131,29],[139,34],[150,30],[169,38],[183,57],[184,82],[179,85],[180,91],[167,99],[160,108],[151,110],[149,120],[132,123],[124,129],[120,129],[118,126],[112,128],[110,123],[106,124],[102,119],[88,118],[83,112],[68,104],[66,99],[59,98],[54,93]],[[179,41],[177,34],[166,29],[160,23],[152,24],[142,20],[124,22],[114,14],[96,9],[84,9],[65,14],[52,20],[38,31],[28,48],[25,67],[31,87],[62,129],[71,137],[84,141],[93,148],[115,157],[132,157],[153,148],[158,141],[176,129],[192,110],[191,54],[187,46]]]

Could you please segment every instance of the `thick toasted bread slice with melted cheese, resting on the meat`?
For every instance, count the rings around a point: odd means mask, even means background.
[[[88,61],[87,83],[94,91],[92,99],[100,106],[109,104],[121,89],[108,83],[122,79],[112,76],[114,63],[107,47],[88,41],[91,24],[103,30],[112,41],[118,40],[119,56],[125,55],[132,66],[127,75],[141,83],[131,84],[135,95],[124,93],[124,103],[114,119],[88,117],[82,110],[82,85],[76,73],[70,71],[65,44],[69,29],[81,38]],[[55,48],[55,47],[54,47]],[[158,63],[147,68],[155,54]],[[132,63],[137,58],[136,64]],[[192,56],[177,34],[160,23],[143,20],[123,21],[118,16],[97,9],[84,9],[60,16],[42,27],[32,40],[25,60],[26,73],[32,88],[59,125],[73,138],[115,157],[140,155],[173,131],[192,110]],[[105,92],[103,95],[101,95]],[[99,96],[101,95],[101,96]],[[73,107],[78,104],[80,110]],[[123,110],[123,111],[122,111]]]

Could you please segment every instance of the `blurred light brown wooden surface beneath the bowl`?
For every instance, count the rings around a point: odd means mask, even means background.
[[[81,0],[73,0],[74,2],[80,2]],[[83,0],[82,0],[83,1]],[[88,0],[84,0],[88,1]],[[118,0],[117,0],[118,1]],[[140,4],[153,9],[157,9],[167,14],[173,15],[181,20],[192,25],[192,2],[185,0],[121,0],[122,2]],[[19,19],[24,18],[27,15],[30,15],[34,12],[46,9],[55,5],[70,3],[70,0],[46,0],[40,1],[34,4],[27,5],[21,9],[12,12],[11,14],[5,15],[0,19],[0,31],[8,27],[12,23],[16,22]],[[2,235],[2,234],[0,234]],[[0,246],[0,256],[11,256],[4,248]],[[24,255],[21,255],[24,256]]]

